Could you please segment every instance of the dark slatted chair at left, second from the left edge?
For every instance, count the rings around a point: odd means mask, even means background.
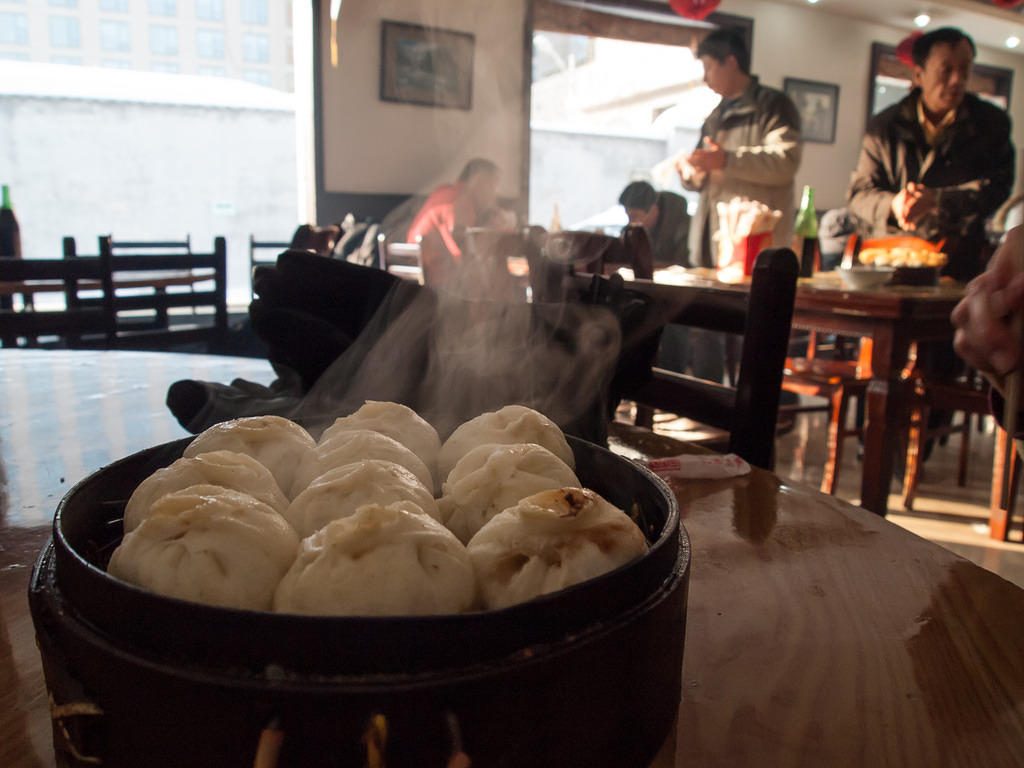
[[[111,346],[169,349],[202,344],[213,349],[227,332],[227,248],[215,238],[210,253],[119,254],[109,236],[99,258],[111,275]]]

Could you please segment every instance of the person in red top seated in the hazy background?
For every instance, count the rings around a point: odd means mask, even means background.
[[[443,285],[454,278],[462,259],[459,244],[466,227],[476,226],[498,199],[501,173],[489,160],[466,163],[459,180],[434,189],[409,228],[407,242],[419,243],[423,282]]]

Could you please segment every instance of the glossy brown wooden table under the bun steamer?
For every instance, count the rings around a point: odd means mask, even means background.
[[[170,383],[237,377],[273,373],[256,358],[0,349],[0,766],[54,765],[27,592],[57,502],[187,434]],[[703,451],[622,424],[609,446],[638,462]],[[690,584],[678,715],[652,768],[1024,765],[1024,590],[764,469],[669,484]]]

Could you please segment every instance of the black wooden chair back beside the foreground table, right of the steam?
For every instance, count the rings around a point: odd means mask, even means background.
[[[694,291],[682,305],[676,305],[678,294],[673,287],[648,281],[627,283],[669,308],[667,318],[672,323],[741,334],[743,339],[735,387],[654,367],[649,380],[627,396],[724,430],[728,434],[724,450],[770,469],[798,271],[793,251],[769,249],[758,256],[745,296]]]

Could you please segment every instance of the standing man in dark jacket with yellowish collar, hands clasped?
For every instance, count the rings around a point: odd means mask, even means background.
[[[1014,183],[1010,118],[967,92],[975,54],[950,27],[918,38],[914,88],[871,120],[849,189],[876,237],[945,241],[943,274],[961,282],[984,268],[985,220]]]

